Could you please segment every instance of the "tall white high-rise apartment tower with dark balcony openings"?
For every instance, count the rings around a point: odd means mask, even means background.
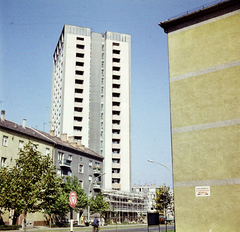
[[[130,35],[64,26],[53,55],[50,121],[56,136],[67,133],[104,156],[104,189],[131,190]]]

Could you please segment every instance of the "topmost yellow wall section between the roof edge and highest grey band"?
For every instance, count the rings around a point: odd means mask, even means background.
[[[239,14],[169,35],[170,77],[238,60],[238,25]]]

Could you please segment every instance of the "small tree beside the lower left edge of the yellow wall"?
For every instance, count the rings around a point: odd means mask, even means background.
[[[159,213],[164,213],[164,210],[167,209],[171,203],[171,195],[169,194],[169,190],[170,187],[167,187],[165,184],[156,190],[155,208]]]

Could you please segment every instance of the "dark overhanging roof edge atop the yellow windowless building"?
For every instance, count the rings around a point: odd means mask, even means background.
[[[195,24],[195,23],[198,23],[198,20],[196,20],[198,18],[199,19],[201,18],[200,21],[207,20],[208,18],[206,16],[214,14],[215,12],[221,11],[221,14],[224,14],[227,11],[226,8],[229,8],[233,5],[240,5],[239,0],[224,0],[224,1],[222,0],[214,5],[209,6],[208,4],[206,7],[202,6],[202,8],[198,8],[197,10],[195,8],[194,11],[190,10],[190,13],[186,12],[186,14],[183,14],[180,17],[177,17],[177,16],[176,18],[173,17],[172,19],[168,19],[164,22],[160,22],[158,25],[164,29],[165,33],[169,33],[171,31],[179,29],[177,26],[180,24],[184,25],[184,23],[186,22],[188,22],[189,24],[190,21],[192,21],[192,24]],[[185,26],[182,26],[182,27],[185,27]],[[169,30],[170,28],[172,29]]]

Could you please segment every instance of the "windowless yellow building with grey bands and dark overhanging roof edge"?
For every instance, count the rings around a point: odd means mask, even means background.
[[[239,231],[240,1],[161,22],[168,34],[177,232]]]

